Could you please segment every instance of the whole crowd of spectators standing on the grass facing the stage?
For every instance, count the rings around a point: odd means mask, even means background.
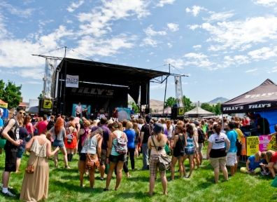
[[[141,170],[150,172],[150,189],[148,195],[152,196],[157,178],[159,156],[170,155],[171,177],[166,179],[166,171],[159,170],[163,193],[167,194],[167,182],[175,180],[175,167],[178,162],[179,178],[192,176],[195,167],[201,168],[204,156],[202,149],[208,141],[206,159],[211,160],[214,169],[214,183],[218,183],[220,169],[229,180],[234,176],[241,155],[241,137],[239,129],[245,119],[234,117],[234,120],[224,119],[184,119],[166,120],[152,119],[145,114],[145,119],[131,119],[130,121],[107,120],[102,116],[99,121],[87,120],[84,117],[65,117],[51,114],[41,118],[24,115],[22,107],[17,107],[16,115],[8,121],[2,130],[5,138],[6,161],[2,174],[2,193],[15,196],[8,190],[10,172],[20,173],[20,159],[24,152],[29,152],[27,166],[33,166],[33,173],[24,173],[20,200],[40,201],[48,198],[49,166],[48,158],[54,155],[55,167],[58,167],[58,151],[62,152],[64,168],[71,169],[68,162],[73,161],[73,155],[79,155],[78,172],[80,173],[80,187],[84,187],[84,175],[90,176],[90,189],[94,189],[95,169],[86,166],[87,156],[97,163],[100,179],[105,180],[104,191],[110,190],[113,173],[116,175],[115,190],[119,189],[122,179],[122,168],[129,175],[130,161],[132,171],[135,170],[135,158],[142,154],[143,167]],[[0,126],[1,127],[1,126]],[[1,128],[0,128],[1,129]],[[223,129],[225,133],[222,133]],[[212,135],[208,135],[212,130]],[[276,126],[277,131],[277,126]],[[276,135],[276,133],[271,134]],[[119,149],[119,142],[127,142],[126,152]],[[123,143],[122,143],[123,144]],[[95,160],[97,159],[97,160]],[[187,175],[185,160],[188,159],[190,168]],[[243,173],[271,174],[276,177],[277,152],[257,152],[250,156],[246,167],[240,168]],[[96,165],[96,164],[95,164]],[[228,175],[227,166],[230,174]],[[107,168],[106,168],[107,167]],[[106,170],[106,172],[105,172]]]

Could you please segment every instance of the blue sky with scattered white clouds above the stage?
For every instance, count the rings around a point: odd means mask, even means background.
[[[277,0],[0,0],[0,79],[22,84],[24,102],[36,99],[45,58],[31,54],[63,57],[66,46],[68,58],[165,72],[171,64],[187,75],[193,102],[232,99],[277,83],[276,15]],[[164,88],[151,83],[150,99],[164,100]]]

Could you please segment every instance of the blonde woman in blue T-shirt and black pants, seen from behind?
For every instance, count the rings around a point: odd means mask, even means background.
[[[127,122],[126,130],[124,130],[123,132],[127,135],[127,140],[128,140],[127,148],[130,156],[132,171],[134,171],[134,167],[135,167],[134,152],[136,149],[136,146],[135,146],[136,132],[132,129],[132,127],[133,127],[132,122],[130,121]],[[129,156],[127,156],[127,166],[128,166]]]

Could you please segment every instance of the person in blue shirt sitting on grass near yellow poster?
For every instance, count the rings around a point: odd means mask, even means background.
[[[267,157],[267,156],[266,156]],[[242,173],[256,174],[261,172],[260,163],[262,163],[262,152],[249,156],[246,161],[246,167],[241,168]],[[267,158],[268,160],[269,158]],[[271,159],[268,161],[271,162]]]

